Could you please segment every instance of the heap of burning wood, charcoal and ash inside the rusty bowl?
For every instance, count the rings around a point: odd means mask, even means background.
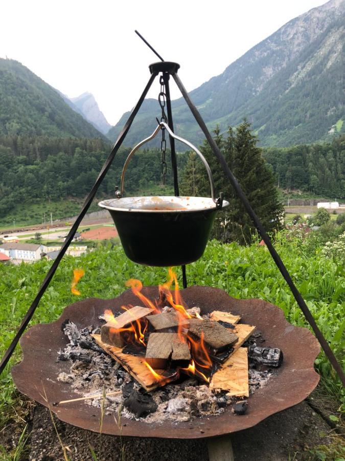
[[[190,421],[228,406],[244,414],[243,399],[267,384],[281,350],[265,347],[261,332],[239,316],[201,317],[198,307],[174,306],[106,310],[97,328],[65,321],[70,342],[58,360],[71,366],[58,380],[88,397],[87,405],[147,423]]]

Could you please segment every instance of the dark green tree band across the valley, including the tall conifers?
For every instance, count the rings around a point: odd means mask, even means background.
[[[272,227],[270,223],[276,221],[280,213],[275,206],[277,196],[274,181],[283,188],[300,188],[315,194],[343,197],[345,136],[332,143],[262,150],[258,148],[257,139],[245,121],[239,125],[236,133],[229,128],[227,134],[221,136],[216,130],[215,139],[252,205],[257,207],[256,211],[259,210],[258,213],[263,216],[267,211],[268,228]],[[101,139],[0,136],[0,218],[6,216],[16,204],[32,199],[55,201],[69,197],[84,198],[110,150],[110,144]],[[208,143],[204,143],[201,150],[210,162],[217,193],[224,192],[228,200],[235,200],[232,188],[222,183],[223,174]],[[99,197],[113,196],[114,188],[120,185],[122,167],[129,152],[129,148],[119,150],[100,186]],[[159,149],[137,152],[129,163],[125,192],[130,195],[172,194],[171,164],[167,161],[167,185],[163,188],[161,161]],[[177,162],[181,193],[209,196],[210,187],[196,157],[181,153]],[[270,205],[265,202],[266,199]],[[233,214],[228,219],[240,223],[236,225],[237,229],[233,229],[233,237],[242,235],[244,239],[250,233],[250,226],[242,219],[241,208],[234,203],[231,206]],[[271,205],[274,205],[273,208]]]

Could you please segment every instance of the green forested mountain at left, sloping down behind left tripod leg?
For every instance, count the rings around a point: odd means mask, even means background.
[[[20,62],[2,58],[0,134],[103,138],[48,83]]]

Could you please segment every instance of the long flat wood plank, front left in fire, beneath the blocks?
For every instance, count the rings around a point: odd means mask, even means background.
[[[117,346],[103,343],[100,334],[91,335],[96,343],[102,347],[114,360],[119,362],[123,368],[130,373],[145,390],[151,391],[157,387],[164,386],[171,381],[178,379],[178,372],[167,373],[165,370],[155,370],[158,377],[154,376],[150,369],[145,365],[145,357],[142,355],[131,355],[122,353],[122,349]],[[166,373],[166,375],[164,375]]]

